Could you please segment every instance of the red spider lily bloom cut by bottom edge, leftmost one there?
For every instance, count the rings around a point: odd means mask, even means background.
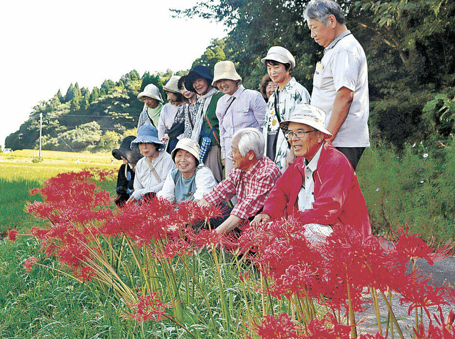
[[[297,331],[303,327],[291,320],[287,313],[278,316],[266,315],[260,324],[254,324],[255,332],[261,339],[300,339],[304,338]]]

